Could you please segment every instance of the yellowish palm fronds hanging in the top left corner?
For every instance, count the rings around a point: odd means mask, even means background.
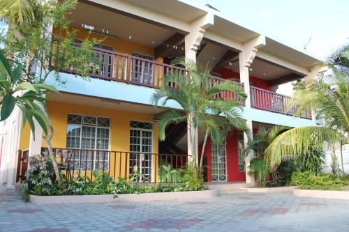
[[[31,22],[34,20],[34,4],[33,0],[1,0],[0,17],[15,24]]]

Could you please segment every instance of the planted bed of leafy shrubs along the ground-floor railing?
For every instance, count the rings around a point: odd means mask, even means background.
[[[71,199],[91,199],[91,195],[112,195],[117,197],[119,194],[147,194],[158,192],[188,192],[207,190],[207,186],[203,184],[202,178],[194,174],[195,169],[188,165],[184,169],[182,183],[177,184],[155,184],[149,185],[139,183],[139,180],[144,179],[144,176],[134,167],[133,176],[127,180],[119,178],[114,180],[107,173],[102,173],[98,170],[93,171],[92,178],[88,176],[75,176],[73,180],[68,181],[63,174],[61,179],[64,180],[61,185],[57,183],[57,178],[54,175],[50,158],[41,155],[34,155],[29,158],[29,171],[27,180],[22,183],[21,194],[24,200],[38,199],[36,196],[66,196],[70,195]],[[36,196],[34,196],[36,195]],[[76,195],[76,197],[71,197]],[[82,197],[82,195],[88,195]],[[175,195],[175,194],[174,194]],[[101,197],[95,197],[98,200]],[[107,197],[106,197],[107,198]],[[44,199],[44,198],[43,198]],[[60,199],[60,198],[57,198]],[[69,198],[66,198],[69,199]],[[102,197],[105,200],[105,197]],[[80,200],[77,200],[80,201]]]

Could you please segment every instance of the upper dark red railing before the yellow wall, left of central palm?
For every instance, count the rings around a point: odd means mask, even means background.
[[[57,41],[58,40],[54,39],[52,65],[57,65],[54,54],[63,52],[59,50],[59,43]],[[79,44],[75,45],[79,46]],[[91,70],[94,71],[88,73],[91,77],[147,86],[150,88],[159,88],[166,73],[172,70],[188,73],[185,68],[151,61],[149,59],[142,59],[137,56],[113,52],[98,47],[93,47],[92,50],[94,51],[94,59],[91,61],[90,66]],[[66,72],[74,73],[75,68],[71,66]]]

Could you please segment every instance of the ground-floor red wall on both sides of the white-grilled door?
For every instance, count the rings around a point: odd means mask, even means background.
[[[245,172],[239,171],[239,159],[237,155],[237,131],[232,130],[226,138],[226,162],[227,162],[227,181],[245,181]],[[202,144],[199,146],[200,155]],[[207,159],[207,181],[211,182],[211,141],[207,140],[204,157]]]

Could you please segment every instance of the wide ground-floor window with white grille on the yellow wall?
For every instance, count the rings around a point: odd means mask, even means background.
[[[70,158],[70,169],[108,169],[110,118],[68,114],[66,148],[79,151]]]

